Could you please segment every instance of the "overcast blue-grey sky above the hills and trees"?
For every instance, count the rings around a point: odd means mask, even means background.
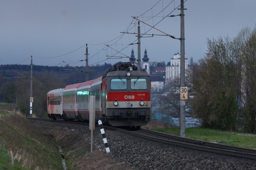
[[[85,66],[137,59],[138,20],[180,38],[180,0],[0,0],[0,65]],[[256,0],[185,0],[185,54],[194,62],[205,56],[207,38],[230,37],[256,24]],[[163,10],[164,9],[164,10]],[[155,16],[152,18],[152,16]],[[170,61],[180,41],[140,22],[141,58]],[[158,34],[158,35],[157,35]],[[109,45],[109,46],[107,46]],[[117,53],[120,51],[121,53]],[[110,57],[110,56],[116,57]],[[109,59],[112,58],[112,59]],[[62,62],[64,61],[64,62]]]

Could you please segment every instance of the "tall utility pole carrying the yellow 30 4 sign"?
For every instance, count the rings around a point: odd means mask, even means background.
[[[181,0],[181,87],[185,86],[184,0]],[[180,137],[185,137],[185,102],[180,105]]]

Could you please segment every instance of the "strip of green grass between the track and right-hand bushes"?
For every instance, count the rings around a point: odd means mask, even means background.
[[[179,128],[157,128],[152,129],[171,135],[180,135]],[[186,128],[185,137],[190,139],[203,140],[206,142],[217,142],[231,146],[256,149],[256,134],[236,133],[229,131],[218,131],[201,127]]]

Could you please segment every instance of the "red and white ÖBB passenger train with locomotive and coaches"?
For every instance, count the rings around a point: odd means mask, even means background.
[[[95,96],[95,122],[139,129],[151,119],[150,89],[145,69],[119,62],[99,78],[47,92],[47,114],[54,120],[88,122],[90,96]]]

